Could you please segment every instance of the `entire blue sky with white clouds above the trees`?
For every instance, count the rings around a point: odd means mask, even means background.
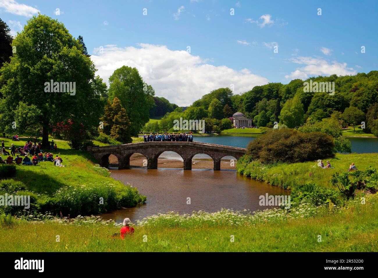
[[[136,67],[179,106],[222,87],[377,70],[377,11],[376,0],[0,0],[13,36],[46,14],[83,37],[104,82]]]

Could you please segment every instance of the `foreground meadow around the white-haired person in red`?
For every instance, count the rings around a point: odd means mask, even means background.
[[[226,227],[136,226],[134,235],[124,240],[113,238],[119,232],[113,225],[19,221],[0,226],[0,246],[3,252],[374,252],[378,250],[374,215],[378,215],[376,198],[309,219]]]

